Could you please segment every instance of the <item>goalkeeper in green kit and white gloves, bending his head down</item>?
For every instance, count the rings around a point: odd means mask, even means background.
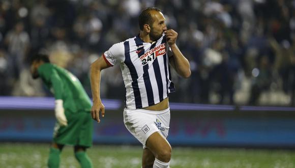
[[[91,101],[80,81],[69,71],[50,64],[48,55],[32,58],[31,73],[41,77],[55,97],[56,124],[50,148],[48,167],[59,167],[60,153],[65,145],[73,145],[75,158],[81,167],[92,167],[86,148],[92,146],[93,120]]]

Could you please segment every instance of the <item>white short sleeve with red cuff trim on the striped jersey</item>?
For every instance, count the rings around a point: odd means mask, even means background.
[[[114,66],[118,62],[123,62],[125,58],[124,44],[121,42],[112,45],[107,51],[104,52],[103,58],[110,66]]]

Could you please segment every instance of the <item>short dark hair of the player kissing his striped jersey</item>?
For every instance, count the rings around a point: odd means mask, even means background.
[[[139,29],[141,31],[143,30],[144,24],[149,24],[149,25],[153,24],[154,19],[151,15],[151,11],[162,12],[159,8],[155,8],[155,7],[149,7],[149,8],[143,9],[138,16]]]

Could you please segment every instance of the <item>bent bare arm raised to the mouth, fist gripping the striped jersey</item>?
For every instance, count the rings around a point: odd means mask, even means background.
[[[170,29],[165,31],[166,39],[168,40],[168,44],[172,50],[173,55],[169,57],[169,62],[175,71],[184,78],[188,78],[191,75],[190,63],[184,57],[178,46],[176,45],[176,39],[178,37],[178,33],[174,30]]]

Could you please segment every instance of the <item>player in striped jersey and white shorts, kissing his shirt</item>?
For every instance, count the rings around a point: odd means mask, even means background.
[[[120,64],[126,88],[124,124],[143,145],[142,167],[169,167],[168,94],[174,92],[169,65],[185,78],[191,74],[190,65],[175,44],[178,34],[167,30],[158,8],[144,9],[138,20],[139,35],[112,45],[91,65],[92,118],[100,122],[99,111],[105,115],[101,70]]]

